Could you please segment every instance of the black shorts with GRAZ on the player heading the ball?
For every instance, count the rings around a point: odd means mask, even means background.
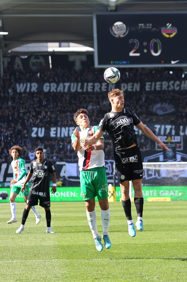
[[[142,156],[138,145],[120,152],[114,151],[114,159],[119,183],[143,178]]]

